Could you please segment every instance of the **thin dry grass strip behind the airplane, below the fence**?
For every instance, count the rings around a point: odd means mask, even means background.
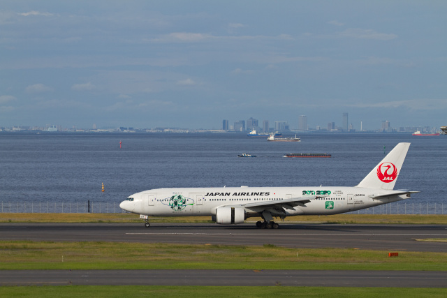
[[[260,221],[249,218],[247,222]],[[212,223],[209,216],[154,217],[151,223]],[[286,223],[359,223],[359,224],[418,224],[447,225],[447,215],[410,214],[336,214],[328,216],[292,216]],[[142,223],[136,214],[47,214],[0,213],[0,223]]]

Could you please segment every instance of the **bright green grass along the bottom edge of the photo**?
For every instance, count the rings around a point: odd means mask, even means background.
[[[446,297],[445,288],[200,287],[152,285],[3,286],[1,297]]]

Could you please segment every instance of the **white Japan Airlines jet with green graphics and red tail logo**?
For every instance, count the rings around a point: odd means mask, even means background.
[[[273,218],[341,214],[411,198],[418,191],[393,190],[410,143],[397,144],[357,186],[157,188],[134,193],[119,204],[149,216],[212,216],[219,224],[261,217],[257,228],[277,229]]]

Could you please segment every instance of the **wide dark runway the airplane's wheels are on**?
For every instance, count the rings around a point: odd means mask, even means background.
[[[175,244],[263,245],[296,248],[361,248],[385,251],[446,251],[447,225],[332,225],[284,223],[278,230],[243,225],[152,223],[2,223],[1,240],[125,241]]]

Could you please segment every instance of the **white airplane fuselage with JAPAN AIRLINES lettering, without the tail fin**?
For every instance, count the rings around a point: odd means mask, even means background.
[[[221,206],[243,207],[247,217],[259,216],[265,207],[250,206],[257,202],[274,202],[275,209],[286,216],[340,214],[404,200],[409,195],[394,191],[360,187],[240,187],[240,188],[158,188],[135,193],[122,202],[122,209],[146,216],[214,216]],[[383,196],[383,194],[389,195]],[[381,194],[381,198],[371,198]],[[281,203],[293,198],[310,202],[285,207]],[[284,204],[286,205],[286,204]]]

